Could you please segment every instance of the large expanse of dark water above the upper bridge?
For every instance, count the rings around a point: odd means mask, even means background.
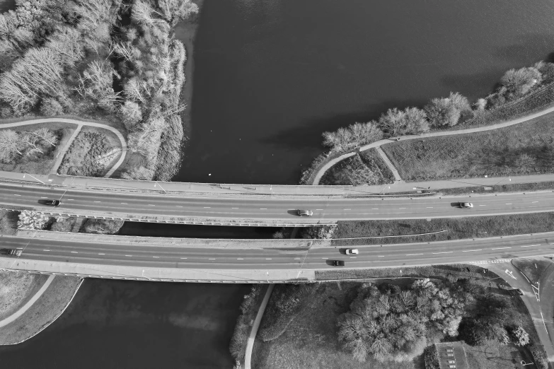
[[[205,0],[175,181],[294,184],[321,133],[554,51],[551,0]],[[209,175],[211,174],[211,176]]]

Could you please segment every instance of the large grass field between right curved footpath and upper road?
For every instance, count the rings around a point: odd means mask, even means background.
[[[551,115],[512,127],[383,146],[404,180],[553,172]]]

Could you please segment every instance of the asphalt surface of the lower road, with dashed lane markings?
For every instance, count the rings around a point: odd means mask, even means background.
[[[140,245],[104,241],[60,241],[3,235],[0,253],[23,249],[20,259],[96,265],[141,266],[177,269],[337,269],[332,260],[343,260],[347,269],[382,266],[413,266],[474,262],[483,259],[512,259],[554,252],[554,233],[504,238],[480,238],[398,245],[357,246],[359,255],[345,254],[344,247],[298,249],[224,249]],[[8,257],[16,260],[15,257]]]

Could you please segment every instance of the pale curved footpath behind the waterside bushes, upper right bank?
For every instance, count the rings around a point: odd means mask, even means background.
[[[513,126],[514,124],[524,123],[524,122],[527,122],[531,119],[542,117],[543,115],[548,115],[552,112],[554,112],[554,106],[549,107],[546,110],[541,110],[540,112],[533,113],[531,115],[526,115],[525,117],[512,119],[512,120],[509,120],[507,122],[491,124],[490,126],[485,126],[485,127],[460,129],[459,131],[430,132],[430,133],[427,133],[427,134],[402,136],[400,138],[395,137],[393,139],[382,139],[382,140],[379,140],[379,141],[375,141],[375,142],[372,142],[371,144],[361,146],[360,148],[358,148],[354,151],[351,151],[350,153],[342,154],[341,156],[338,156],[337,158],[334,158],[333,160],[330,160],[329,163],[323,165],[323,167],[321,167],[321,169],[318,171],[318,173],[316,174],[316,177],[313,179],[313,185],[319,185],[319,181],[321,180],[321,178],[323,177],[325,172],[327,172],[327,170],[329,170],[329,168],[331,168],[333,165],[340,162],[341,160],[345,160],[346,158],[350,158],[351,156],[356,155],[360,151],[366,151],[366,150],[369,150],[370,148],[379,148],[384,144],[390,144],[391,141],[396,141],[396,139],[402,139],[402,141],[405,141],[405,140],[413,140],[413,139],[426,139],[426,138],[429,138],[429,137],[454,136],[456,134],[471,134],[471,133],[475,133],[475,132],[491,131],[492,129],[499,129],[499,128]]]

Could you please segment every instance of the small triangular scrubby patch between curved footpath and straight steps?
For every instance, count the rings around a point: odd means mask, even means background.
[[[320,185],[384,185],[393,182],[393,173],[371,148],[333,165],[321,178]]]

